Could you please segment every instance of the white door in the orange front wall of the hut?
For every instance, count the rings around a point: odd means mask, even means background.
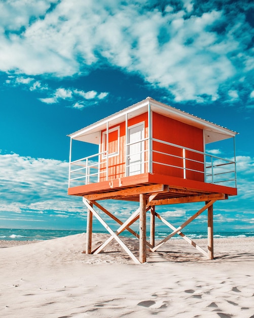
[[[128,129],[128,175],[144,173],[144,124],[138,123]]]

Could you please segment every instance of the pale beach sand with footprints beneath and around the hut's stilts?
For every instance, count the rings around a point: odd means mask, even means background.
[[[93,245],[105,237],[94,234]],[[1,316],[254,318],[254,237],[215,239],[210,261],[184,240],[169,240],[140,265],[115,240],[86,255],[85,240],[0,241]]]

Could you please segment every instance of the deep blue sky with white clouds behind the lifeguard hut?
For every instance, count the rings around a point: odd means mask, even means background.
[[[66,135],[151,96],[239,132],[239,194],[216,202],[214,227],[253,231],[253,24],[247,0],[1,2],[0,227],[85,229]],[[121,218],[136,207],[104,205]],[[199,206],[160,212],[179,225]]]

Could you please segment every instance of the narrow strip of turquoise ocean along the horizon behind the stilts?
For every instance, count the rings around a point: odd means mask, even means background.
[[[0,229],[0,240],[16,240],[16,241],[42,241],[50,240],[58,237],[68,236],[84,233],[84,231],[76,230],[27,230],[27,229]],[[107,231],[93,231],[93,233],[107,233]],[[161,231],[156,232],[156,239],[163,239],[168,236],[171,232]],[[184,232],[191,239],[202,239],[207,238],[206,232]],[[133,237],[128,231],[124,231],[121,235],[127,237]],[[150,233],[147,233],[150,236]],[[238,231],[238,232],[214,232],[214,238],[233,238],[233,237],[249,237],[254,236],[254,231]],[[180,239],[180,236],[175,235],[172,239]]]

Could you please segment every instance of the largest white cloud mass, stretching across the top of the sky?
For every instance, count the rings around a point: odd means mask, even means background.
[[[1,3],[0,70],[62,77],[84,74],[105,61],[138,72],[168,89],[176,101],[203,102],[206,96],[216,100],[221,85],[238,98],[229,80],[244,78],[253,65],[245,50],[250,25],[233,3],[227,4],[230,10],[219,10],[211,1],[198,13],[191,1],[183,2],[182,9],[167,6],[164,12],[135,0],[127,6],[62,0],[49,10],[50,4]],[[249,6],[246,2],[242,7]],[[227,27],[220,31],[225,21]],[[249,87],[247,77],[245,84]]]

